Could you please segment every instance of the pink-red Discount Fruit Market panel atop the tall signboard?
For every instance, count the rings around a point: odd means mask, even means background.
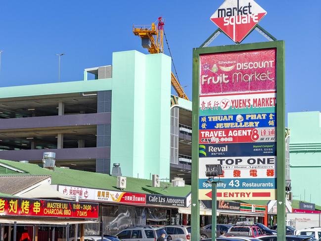
[[[275,49],[200,55],[200,95],[275,90]]]

